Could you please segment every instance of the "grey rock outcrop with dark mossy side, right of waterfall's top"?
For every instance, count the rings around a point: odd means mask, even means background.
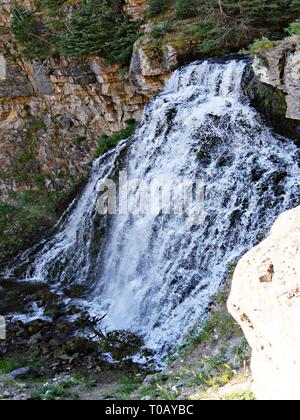
[[[261,50],[245,87],[253,105],[283,135],[300,140],[300,38]]]

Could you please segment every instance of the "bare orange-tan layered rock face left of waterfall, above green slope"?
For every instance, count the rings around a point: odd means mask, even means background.
[[[139,19],[146,3],[128,0],[128,12]],[[32,188],[12,176],[28,143],[38,172],[47,178],[45,187],[64,185],[68,176],[62,174],[87,172],[101,135],[119,131],[128,119],[141,120],[145,104],[170,74],[168,53],[157,60],[147,37],[137,43],[125,74],[100,57],[26,62],[8,30],[12,4],[4,0],[0,6],[0,202],[12,188]]]

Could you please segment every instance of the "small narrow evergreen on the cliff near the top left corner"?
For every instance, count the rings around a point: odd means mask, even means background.
[[[16,5],[11,31],[28,60],[45,59],[55,52],[53,36],[30,10]]]

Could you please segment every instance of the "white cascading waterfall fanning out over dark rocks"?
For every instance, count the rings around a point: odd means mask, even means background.
[[[135,135],[95,162],[89,182],[57,233],[19,257],[6,275],[84,285],[77,303],[107,314],[108,330],[143,337],[158,358],[205,319],[228,267],[299,203],[299,154],[250,106],[241,84],[247,62],[205,61],[175,71],[146,107]],[[128,176],[202,179],[205,217],[96,212],[97,183]],[[66,298],[67,302],[67,298]]]

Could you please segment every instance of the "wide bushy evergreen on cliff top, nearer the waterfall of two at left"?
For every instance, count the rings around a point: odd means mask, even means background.
[[[126,65],[138,38],[140,22],[130,22],[121,0],[84,0],[67,25],[60,49],[67,56],[98,55]]]

